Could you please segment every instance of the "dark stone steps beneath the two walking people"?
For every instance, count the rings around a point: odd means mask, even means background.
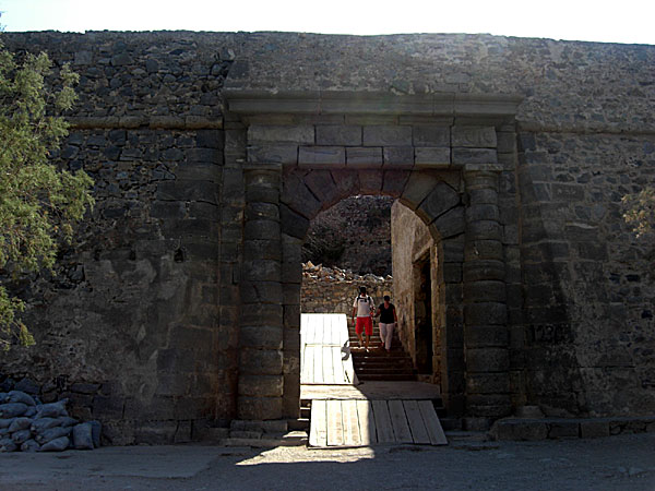
[[[382,348],[379,327],[373,326],[373,335],[369,343],[369,350],[359,348],[355,330],[349,330],[350,352],[357,378],[365,381],[416,381],[416,370],[412,358],[407,355],[397,332],[394,330],[391,351]]]

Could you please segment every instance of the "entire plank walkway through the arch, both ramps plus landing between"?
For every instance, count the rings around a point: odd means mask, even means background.
[[[357,380],[344,314],[302,314],[301,398],[311,400],[309,445],[445,445],[434,411],[438,386]],[[377,385],[376,385],[377,384]]]

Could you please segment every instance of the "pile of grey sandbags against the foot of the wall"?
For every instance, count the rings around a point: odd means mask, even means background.
[[[0,392],[0,452],[61,452],[100,446],[100,423],[68,415],[68,399],[41,404],[22,391]]]

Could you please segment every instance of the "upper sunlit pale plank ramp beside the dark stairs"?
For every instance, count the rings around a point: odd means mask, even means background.
[[[300,384],[357,383],[344,314],[306,314],[300,321]]]

